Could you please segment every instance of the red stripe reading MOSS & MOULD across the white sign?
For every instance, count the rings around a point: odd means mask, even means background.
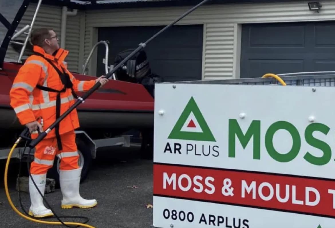
[[[173,165],[153,166],[153,194],[335,218],[335,181]]]

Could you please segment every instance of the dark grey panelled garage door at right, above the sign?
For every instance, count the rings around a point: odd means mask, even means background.
[[[241,78],[335,70],[335,22],[242,27]]]

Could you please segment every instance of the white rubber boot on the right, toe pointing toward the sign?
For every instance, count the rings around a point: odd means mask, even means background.
[[[79,194],[81,168],[74,170],[60,170],[59,183],[63,193],[61,208],[70,209],[92,208],[96,206],[95,199],[84,199]]]

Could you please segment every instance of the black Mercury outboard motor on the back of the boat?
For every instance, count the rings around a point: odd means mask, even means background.
[[[118,65],[135,49],[127,49],[119,52],[115,57],[114,66]],[[139,51],[116,72],[117,80],[142,84],[154,97],[154,86],[156,82],[162,82],[162,78],[151,72],[147,54],[144,50]]]

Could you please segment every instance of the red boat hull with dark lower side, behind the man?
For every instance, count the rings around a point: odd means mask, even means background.
[[[9,90],[20,64],[6,63],[0,70],[0,128],[21,129],[16,114],[10,106]],[[96,77],[73,74],[78,80]],[[81,96],[83,93],[78,93]],[[154,99],[141,84],[110,80],[96,90],[77,108],[80,129],[84,131],[153,129]],[[119,131],[118,131],[119,132]]]

